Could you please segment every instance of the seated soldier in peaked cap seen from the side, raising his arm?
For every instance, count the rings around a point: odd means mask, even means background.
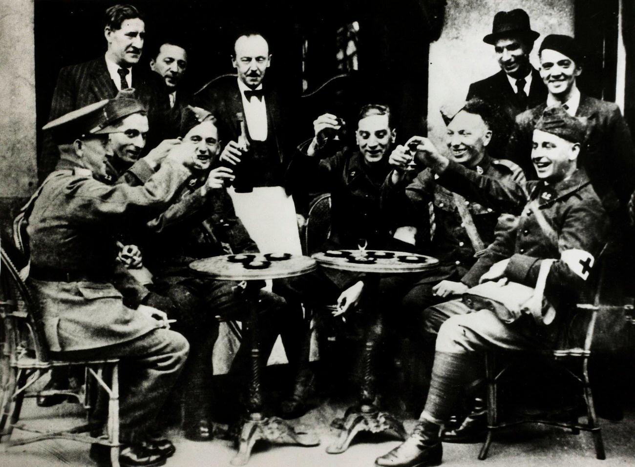
[[[51,121],[57,168],[23,207],[30,249],[29,285],[41,307],[46,339],[67,358],[121,358],[119,409],[124,466],[163,464],[174,447],[147,429],[175,383],[188,352],[166,329],[165,313],[124,306],[112,285],[115,238],[165,209],[190,176],[191,151],[175,148],[144,185],[114,184],[110,136],[121,119],[142,113],[135,100],[103,100]],[[91,457],[108,450],[91,447]]]

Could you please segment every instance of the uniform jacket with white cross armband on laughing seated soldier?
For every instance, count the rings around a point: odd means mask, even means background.
[[[554,185],[535,180],[505,183],[450,162],[438,181],[484,206],[519,214],[516,228],[498,237],[479,263],[509,258],[505,276],[535,287],[540,260],[554,258],[547,297],[573,299],[585,289],[606,243],[608,216],[584,170]]]

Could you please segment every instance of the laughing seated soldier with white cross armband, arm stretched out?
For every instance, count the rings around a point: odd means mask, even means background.
[[[584,169],[576,166],[584,135],[584,123],[565,110],[545,110],[533,131],[531,161],[538,180],[523,183],[500,181],[464,168],[439,154],[429,141],[418,146],[416,157],[439,175],[439,184],[471,201],[519,215],[518,227],[498,237],[495,248],[475,266],[492,264],[481,275],[479,293],[488,282],[509,281],[495,287],[502,291],[498,301],[509,306],[495,311],[472,309],[468,304],[474,301],[462,299],[436,306],[450,318],[439,329],[424,411],[410,437],[379,457],[378,466],[441,463],[439,431],[455,410],[460,388],[474,380],[474,369],[486,350],[546,350],[554,345],[568,310],[589,284],[592,266],[606,242],[606,212]],[[477,295],[477,287],[468,293]],[[513,298],[521,289],[529,299],[512,307],[504,294]],[[551,315],[542,315],[543,298],[556,310],[553,320]],[[532,313],[524,313],[525,309]]]

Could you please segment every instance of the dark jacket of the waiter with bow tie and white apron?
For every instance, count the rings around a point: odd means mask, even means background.
[[[194,94],[194,105],[209,110],[220,120],[223,134],[219,136],[223,145],[236,141],[240,135],[236,112],[244,112],[244,109],[236,79],[231,75],[220,77]],[[274,138],[283,169],[286,169],[295,150],[293,141],[289,142],[295,134],[291,126],[295,112],[288,100],[285,101],[281,93],[268,86],[267,82],[263,89],[267,105],[267,133]]]

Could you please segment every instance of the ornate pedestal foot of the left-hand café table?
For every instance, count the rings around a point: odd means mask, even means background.
[[[296,431],[281,418],[262,418],[260,414],[251,414],[250,418],[244,421],[240,436],[237,439],[238,454],[231,460],[231,464],[245,465],[249,461],[253,445],[258,440],[273,444],[319,445],[318,437],[312,433]]]

